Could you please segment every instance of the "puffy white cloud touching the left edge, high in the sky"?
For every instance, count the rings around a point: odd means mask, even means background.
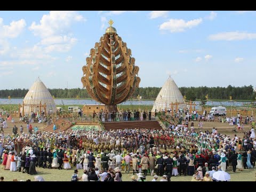
[[[15,38],[18,37],[26,27],[26,21],[12,21],[10,25],[4,25],[3,18],[0,18],[0,38]]]

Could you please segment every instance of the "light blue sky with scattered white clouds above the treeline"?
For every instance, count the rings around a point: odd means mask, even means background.
[[[90,49],[114,21],[140,87],[256,85],[255,11],[0,11],[2,89],[82,88]]]

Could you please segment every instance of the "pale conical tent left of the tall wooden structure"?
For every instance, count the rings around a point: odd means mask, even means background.
[[[46,111],[52,110],[54,113],[56,112],[56,105],[52,98],[51,93],[47,90],[44,83],[41,79],[37,79],[35,83],[30,87],[28,93],[26,94],[25,98],[23,99],[24,102],[24,113],[30,114],[31,111],[39,111],[40,110],[40,101],[42,104],[41,110],[44,110],[43,105],[46,104]],[[21,108],[22,112],[22,108]]]

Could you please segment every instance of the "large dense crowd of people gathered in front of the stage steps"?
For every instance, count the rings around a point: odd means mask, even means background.
[[[243,138],[221,134],[214,127],[211,131],[195,131],[185,123],[166,130],[52,133],[34,127],[28,133],[23,129],[20,134],[14,131],[12,135],[0,135],[2,167],[27,174],[37,174],[36,167],[68,170],[74,166],[84,171],[77,181],[122,181],[122,169],[124,173],[137,173],[137,181],[145,181],[147,174],[154,173],[166,180],[194,174],[196,180],[204,180],[212,178],[218,166],[222,171],[232,167],[233,172],[255,166],[253,126]]]

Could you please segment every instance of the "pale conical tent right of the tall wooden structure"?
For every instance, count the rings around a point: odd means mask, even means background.
[[[155,112],[155,109],[160,111],[171,108],[171,103],[173,103],[173,109],[175,109],[175,102],[179,103],[178,107],[183,108],[186,106],[178,86],[169,77],[157,95],[152,112]]]

